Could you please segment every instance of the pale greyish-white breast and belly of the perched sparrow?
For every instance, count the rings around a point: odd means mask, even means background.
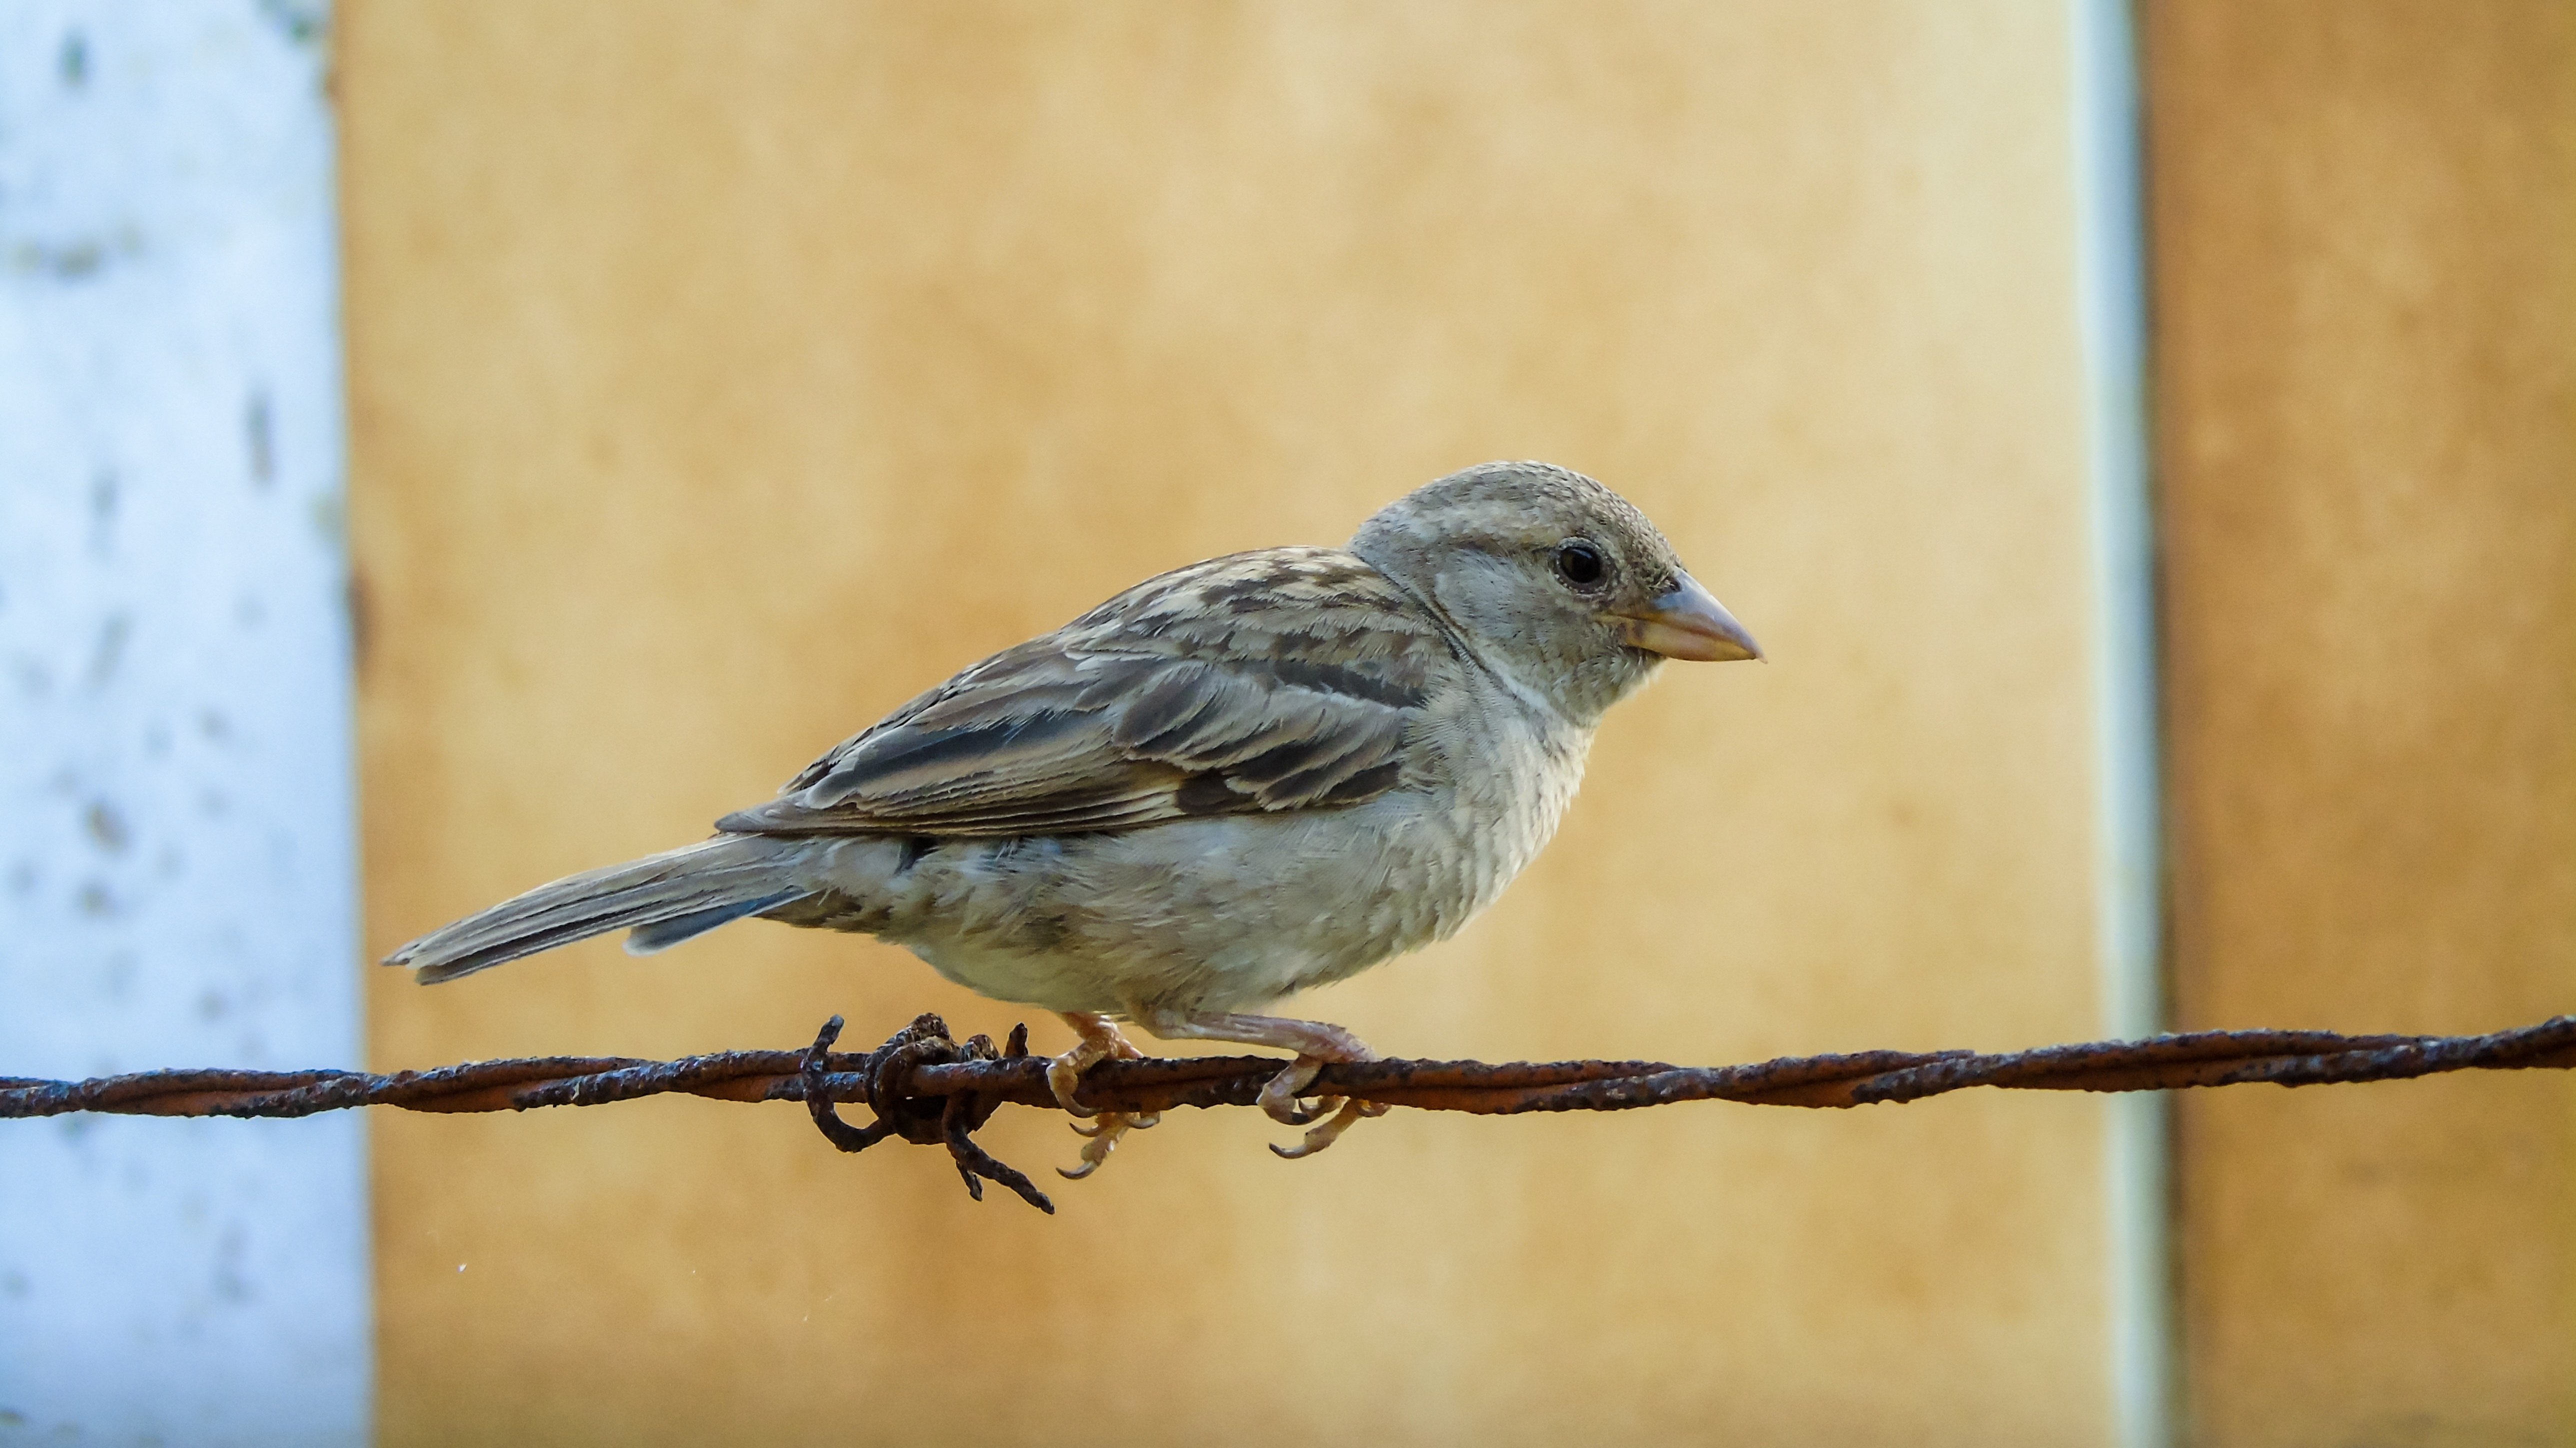
[[[1589,732],[1494,719],[1481,721],[1499,734],[1486,760],[1507,768],[1448,791],[927,850],[832,840],[814,845],[806,879],[868,904],[835,925],[902,943],[997,1000],[1257,1010],[1453,935],[1538,855]]]

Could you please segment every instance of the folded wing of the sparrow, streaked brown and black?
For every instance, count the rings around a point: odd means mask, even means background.
[[[1445,634],[1340,549],[1208,559],[1005,649],[719,822],[1069,835],[1396,788]]]

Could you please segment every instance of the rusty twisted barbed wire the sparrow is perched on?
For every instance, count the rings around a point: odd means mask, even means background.
[[[647,1062],[631,1056],[528,1056],[466,1062],[433,1072],[237,1072],[162,1069],[82,1082],[0,1077],[0,1118],[100,1110],[121,1116],[314,1116],[355,1105],[402,1110],[533,1110],[605,1105],[647,1095],[801,1100],[845,1152],[902,1136],[945,1147],[984,1198],[999,1183],[1041,1211],[1054,1203],[1025,1175],[974,1141],[1002,1105],[1056,1108],[1046,1056],[1028,1054],[1028,1025],[1005,1046],[956,1041],[938,1015],[920,1015],[876,1051],[832,1051],[835,1015],[796,1051],[716,1051]],[[1739,1067],[1664,1062],[1365,1062],[1329,1064],[1311,1095],[1417,1110],[1517,1116],[1525,1110],[1633,1110],[1682,1100],[1747,1105],[1875,1105],[1968,1087],[2004,1090],[2182,1090],[2246,1082],[2285,1087],[2388,1082],[2442,1072],[2576,1067],[2576,1018],[2494,1036],[2339,1036],[2334,1031],[2195,1031],[2146,1041],[2089,1041],[2032,1051],[1852,1051],[1783,1056]],[[1074,1095],[1092,1110],[1151,1116],[1182,1105],[1255,1105],[1280,1072],[1278,1056],[1146,1056],[1100,1062]],[[868,1105],[873,1126],[840,1121],[835,1105]]]

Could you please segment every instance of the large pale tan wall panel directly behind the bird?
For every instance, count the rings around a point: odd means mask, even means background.
[[[1492,917],[1306,1005],[1486,1059],[2092,1036],[2066,64],[2030,3],[348,0],[371,948],[1149,572],[1543,456],[1775,662],[1674,670]],[[379,974],[374,1064],[925,1007],[1025,1015],[750,925]],[[2110,1435],[2097,1100],[1296,1165],[1188,1113],[1056,1219],[788,1108],[374,1131],[386,1443]]]

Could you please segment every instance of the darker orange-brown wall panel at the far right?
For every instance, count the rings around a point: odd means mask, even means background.
[[[2576,984],[2576,8],[2151,8],[2187,1025]],[[2576,1440],[2576,1080],[2184,1100],[2210,1445]]]

